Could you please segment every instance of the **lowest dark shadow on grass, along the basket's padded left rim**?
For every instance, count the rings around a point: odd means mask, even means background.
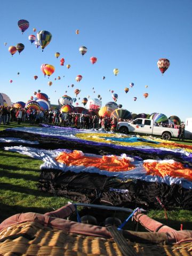
[[[45,208],[27,207],[27,206],[21,206],[21,205],[8,205],[8,204],[2,204],[2,203],[0,203],[0,209],[1,209],[0,223],[17,213],[36,212],[36,213],[44,214],[46,212],[53,211],[51,207],[45,207]]]

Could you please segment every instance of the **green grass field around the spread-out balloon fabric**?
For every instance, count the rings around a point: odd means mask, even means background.
[[[0,130],[15,126],[16,123],[1,125]],[[37,189],[41,164],[41,161],[28,156],[0,149],[0,222],[16,213],[52,211],[69,201],[68,198],[54,197]],[[192,229],[191,213],[181,209],[168,211],[168,221],[163,210],[151,210],[148,215],[175,229],[180,229],[181,223],[183,229]]]

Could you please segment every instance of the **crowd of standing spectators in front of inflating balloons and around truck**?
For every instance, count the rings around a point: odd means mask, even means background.
[[[10,122],[18,122],[18,124],[29,123],[39,124],[48,123],[61,126],[75,126],[83,129],[99,129],[105,131],[116,131],[118,121],[132,122],[132,119],[116,119],[109,117],[98,117],[86,114],[76,113],[61,113],[60,110],[34,110],[34,109],[16,109],[13,107],[1,106],[0,108],[0,124],[10,124]],[[169,127],[179,129],[178,138],[184,139],[185,125],[169,124],[169,123],[155,123],[155,126]]]

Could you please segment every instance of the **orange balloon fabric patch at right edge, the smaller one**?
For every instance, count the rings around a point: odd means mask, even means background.
[[[165,177],[169,175],[170,177],[185,178],[192,181],[192,169],[187,169],[183,164],[174,163],[158,163],[158,162],[145,162],[143,163],[147,171],[147,175],[158,175],[160,177]]]

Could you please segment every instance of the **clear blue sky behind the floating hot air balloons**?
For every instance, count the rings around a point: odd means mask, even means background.
[[[26,102],[40,89],[56,104],[65,91],[74,98],[77,88],[81,90],[81,99],[87,95],[97,98],[100,94],[105,106],[113,101],[109,90],[114,90],[117,103],[132,113],[178,115],[185,121],[192,116],[191,10],[191,0],[2,1],[0,92],[9,95],[12,102]],[[23,35],[17,25],[20,19],[30,23]],[[28,41],[28,36],[34,34],[33,28],[52,34],[44,52]],[[75,34],[76,29],[79,35]],[[17,43],[23,43],[25,50],[12,58],[8,47]],[[84,57],[78,50],[81,45],[87,47]],[[61,53],[58,59],[55,52]],[[90,62],[92,56],[98,58],[94,65]],[[65,59],[63,67],[61,58]],[[170,60],[163,76],[157,68],[159,58]],[[43,63],[55,67],[50,79],[41,72]],[[119,69],[117,76],[114,68]],[[34,75],[38,76],[36,81]],[[75,81],[77,75],[83,76],[80,83]],[[61,79],[54,81],[58,76]],[[53,82],[51,87],[48,81]],[[68,88],[71,84],[74,87]],[[130,89],[127,94],[125,87]],[[143,97],[146,92],[147,99]],[[82,106],[81,100],[78,102]]]

